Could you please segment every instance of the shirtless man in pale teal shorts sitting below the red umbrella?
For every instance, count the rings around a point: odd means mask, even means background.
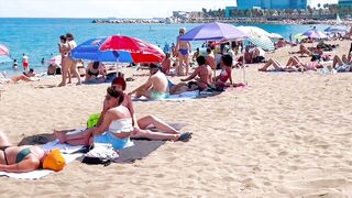
[[[142,96],[152,99],[160,100],[169,96],[168,81],[164,73],[162,73],[157,65],[150,65],[151,76],[145,84],[134,89],[129,95],[135,94],[136,98]]]

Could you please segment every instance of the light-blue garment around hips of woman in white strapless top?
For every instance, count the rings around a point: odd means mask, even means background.
[[[94,143],[111,144],[114,150],[122,150],[133,145],[133,142],[130,140],[130,138],[119,139],[114,136],[111,132],[95,135]]]

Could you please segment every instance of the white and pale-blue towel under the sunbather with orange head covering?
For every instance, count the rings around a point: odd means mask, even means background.
[[[48,142],[44,145],[42,145],[42,148],[44,151],[53,150],[53,148],[59,148],[63,152],[63,156],[65,157],[66,164],[75,161],[76,158],[80,157],[82,153],[75,153],[81,150],[84,146],[72,146],[68,144],[62,144],[58,142],[58,140],[55,140],[53,142]],[[40,179],[51,173],[55,173],[54,170],[50,169],[36,169],[29,173],[7,173],[7,172],[0,172],[0,176],[8,176],[16,179]]]

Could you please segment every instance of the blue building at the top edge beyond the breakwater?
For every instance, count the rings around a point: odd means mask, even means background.
[[[237,0],[240,10],[253,9],[306,9],[311,0]]]

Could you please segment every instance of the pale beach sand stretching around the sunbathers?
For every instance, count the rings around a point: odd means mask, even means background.
[[[340,42],[336,53],[346,53]],[[307,44],[309,46],[309,44]],[[283,48],[267,57],[286,62]],[[306,58],[307,59],[307,58]],[[187,143],[167,142],[133,164],[75,161],[38,180],[0,177],[7,197],[349,197],[352,195],[352,74],[258,73],[249,86],[184,102],[135,102],[138,117],[187,123]],[[135,72],[124,69],[125,77]],[[241,70],[233,74],[241,81]],[[132,90],[146,79],[133,77]],[[179,78],[170,78],[178,81]],[[0,129],[12,142],[86,124],[108,84],[54,87],[58,77],[6,85]]]

